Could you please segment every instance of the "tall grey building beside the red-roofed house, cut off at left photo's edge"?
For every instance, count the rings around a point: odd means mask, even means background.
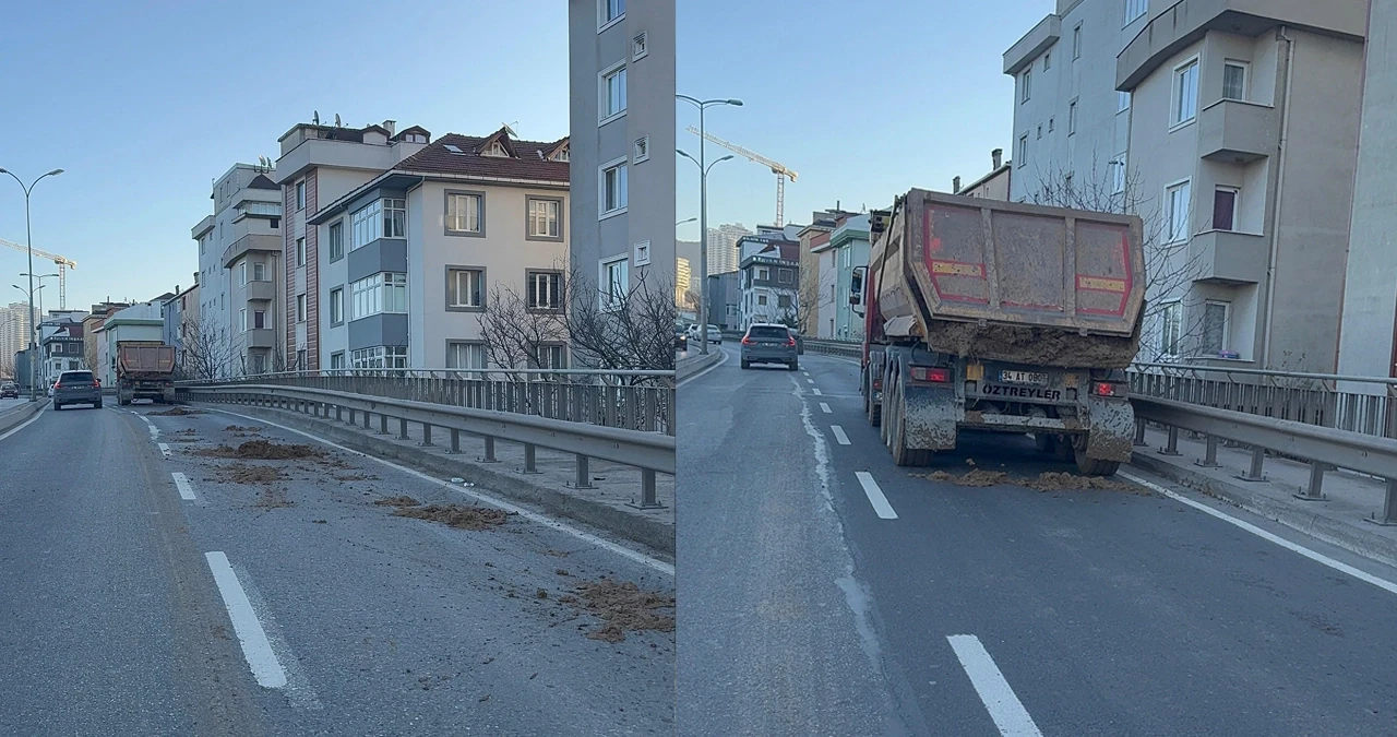
[[[569,67],[571,263],[602,299],[641,280],[669,294],[675,1],[569,0]]]

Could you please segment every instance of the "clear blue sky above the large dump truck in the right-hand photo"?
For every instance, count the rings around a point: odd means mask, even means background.
[[[633,0],[638,1],[638,0]],[[785,218],[883,207],[914,186],[989,173],[1011,154],[1013,80],[1003,53],[1052,0],[679,0],[679,92],[738,98],[710,133],[785,164]],[[679,147],[698,155],[697,112],[679,108]],[[710,144],[710,159],[725,154]],[[698,215],[698,168],[679,161],[678,220]],[[735,158],[708,176],[708,222],[770,224],[775,176]],[[698,225],[679,228],[698,239]]]

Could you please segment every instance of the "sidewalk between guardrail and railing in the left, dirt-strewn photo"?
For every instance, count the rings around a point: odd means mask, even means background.
[[[422,425],[408,424],[408,439],[398,438],[398,422],[388,422],[388,434],[365,429],[360,425],[337,422],[332,418],[314,418],[289,410],[249,407],[242,404],[203,404],[190,407],[226,410],[249,417],[296,428],[327,441],[332,441],[362,453],[401,461],[405,466],[440,478],[464,478],[476,489],[493,492],[503,498],[524,502],[546,510],[550,515],[571,517],[594,527],[608,530],[626,540],[648,545],[657,551],[675,552],[675,478],[658,474],[655,498],[659,509],[637,509],[640,501],[640,470],[630,466],[591,459],[592,485],[574,487],[577,466],[571,453],[559,453],[539,448],[535,455],[538,473],[525,474],[524,446],[497,441],[495,463],[485,463],[485,439],[461,434],[461,452],[448,453],[450,432],[434,428],[432,446],[422,445]]]

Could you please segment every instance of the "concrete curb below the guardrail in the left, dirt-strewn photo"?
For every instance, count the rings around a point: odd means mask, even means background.
[[[211,407],[221,408],[218,406]],[[358,429],[338,427],[332,422],[303,418],[292,413],[244,406],[237,406],[229,411],[281,422],[284,425],[321,436],[327,441],[334,441],[345,448],[352,448],[360,453],[397,460],[419,471],[427,471],[447,478],[464,478],[479,487],[482,491],[493,491],[511,501],[538,506],[550,515],[574,519],[585,524],[608,530],[616,536],[630,540],[631,543],[638,543],[671,557],[675,554],[673,524],[665,524],[664,522],[640,517],[602,502],[581,499],[557,489],[539,487],[507,471],[485,468],[481,464],[464,460],[464,457],[462,460],[457,460],[432,450],[404,446],[394,441],[363,435]]]

